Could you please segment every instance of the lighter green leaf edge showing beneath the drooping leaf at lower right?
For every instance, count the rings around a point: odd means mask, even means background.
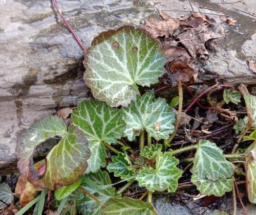
[[[233,176],[231,176],[230,178],[219,179],[216,181],[206,178],[200,178],[196,174],[193,174],[191,176],[191,182],[197,186],[197,189],[202,195],[207,196],[223,196],[226,192],[232,190],[233,181]]]

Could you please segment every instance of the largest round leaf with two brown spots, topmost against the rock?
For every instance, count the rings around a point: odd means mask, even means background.
[[[136,100],[138,85],[150,86],[164,74],[161,45],[134,27],[110,30],[95,37],[86,55],[84,80],[93,96],[111,107]]]

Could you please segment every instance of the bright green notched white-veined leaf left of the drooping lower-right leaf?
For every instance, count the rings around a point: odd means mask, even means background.
[[[179,160],[172,156],[170,152],[158,152],[156,157],[156,168],[142,168],[136,180],[140,186],[146,187],[151,192],[156,190],[175,192],[178,187],[178,179],[181,171],[177,168]]]

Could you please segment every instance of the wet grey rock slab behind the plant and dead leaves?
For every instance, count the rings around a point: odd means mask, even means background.
[[[156,9],[169,10],[172,17],[188,15],[190,10],[188,1],[178,0],[57,2],[86,46],[101,31],[139,25]],[[196,1],[201,12],[230,15],[241,26],[224,25],[228,35],[220,40],[219,52],[209,59],[198,79],[255,84],[256,75],[246,60],[255,60],[256,22],[253,16],[237,11],[239,5],[232,5],[233,9],[220,2]],[[82,81],[83,53],[50,0],[0,0],[0,7],[0,173],[7,174],[15,170],[19,131],[60,107],[76,106],[91,93]],[[220,16],[211,17],[219,20]]]

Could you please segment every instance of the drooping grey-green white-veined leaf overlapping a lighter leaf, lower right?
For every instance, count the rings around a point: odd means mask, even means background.
[[[199,178],[216,181],[233,175],[233,164],[226,160],[223,151],[209,140],[200,140],[192,168]]]

